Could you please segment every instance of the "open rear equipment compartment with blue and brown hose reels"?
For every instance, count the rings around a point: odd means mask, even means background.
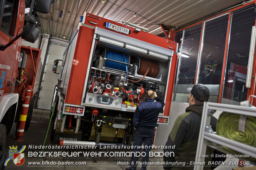
[[[83,101],[92,121],[83,125],[84,140],[131,144],[132,117],[146,92],[165,99],[170,59],[97,41]]]

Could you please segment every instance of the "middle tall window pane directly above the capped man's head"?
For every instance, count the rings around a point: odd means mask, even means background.
[[[218,102],[229,13],[204,22],[202,48],[197,84],[204,84],[210,90],[210,102]],[[208,85],[209,84],[209,85]]]

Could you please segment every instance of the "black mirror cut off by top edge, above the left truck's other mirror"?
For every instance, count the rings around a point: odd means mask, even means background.
[[[31,1],[25,0],[27,7],[30,7]],[[54,0],[35,0],[33,9],[41,13],[48,13],[52,3],[54,3]]]

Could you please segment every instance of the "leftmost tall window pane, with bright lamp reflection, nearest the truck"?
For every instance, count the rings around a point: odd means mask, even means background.
[[[194,86],[201,29],[202,24],[198,24],[176,34],[176,42],[180,46],[177,63],[177,69],[179,70],[176,71],[177,77],[174,86],[174,101],[188,102],[189,91],[187,91],[187,88]]]

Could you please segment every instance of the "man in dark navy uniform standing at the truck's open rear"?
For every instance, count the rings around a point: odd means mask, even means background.
[[[143,152],[146,153],[146,156],[142,158],[142,170],[146,170],[147,168],[149,151],[152,147],[158,115],[164,107],[164,101],[160,97],[157,97],[156,92],[152,90],[147,91],[146,98],[146,101],[137,106],[132,119],[132,124],[136,129],[133,140],[133,145],[135,147],[134,152],[140,152],[142,142],[145,147]],[[154,101],[154,98],[156,98],[156,101]],[[138,158],[139,157],[136,157],[134,154],[132,155],[129,167],[130,170],[136,170]]]

